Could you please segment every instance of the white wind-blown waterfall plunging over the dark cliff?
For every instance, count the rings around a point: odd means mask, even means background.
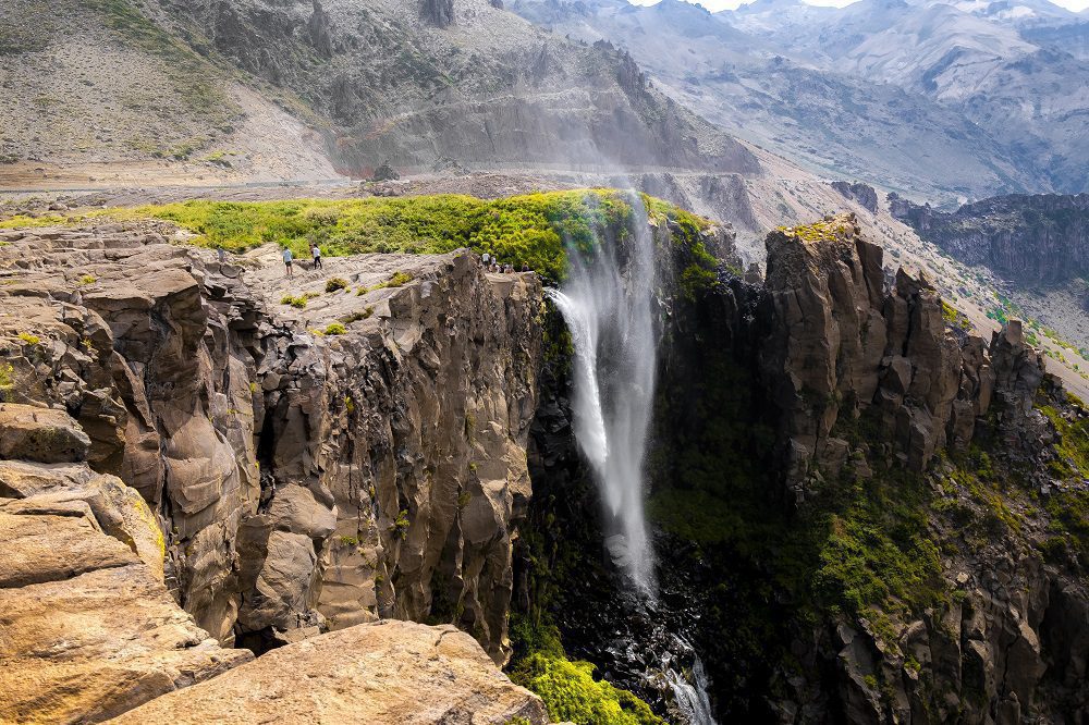
[[[654,242],[646,211],[633,198],[637,218],[623,248],[602,239],[588,250],[568,245],[567,280],[549,294],[575,348],[572,426],[611,518],[609,553],[636,589],[653,598],[644,457],[658,361]]]

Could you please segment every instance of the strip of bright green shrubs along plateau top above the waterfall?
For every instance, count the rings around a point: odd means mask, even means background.
[[[710,224],[671,204],[640,195],[656,222],[675,224],[678,243],[701,250],[706,262],[686,270],[690,283],[706,282],[714,259],[699,244]],[[79,219],[161,219],[194,233],[195,244],[242,253],[262,244],[291,247],[307,258],[316,243],[326,256],[364,253],[442,254],[460,247],[489,253],[558,281],[566,267],[566,245],[588,249],[601,238],[623,239],[636,219],[631,194],[584,189],[526,194],[484,200],[470,196],[406,196],[289,201],[208,201],[96,211],[86,217],[15,217],[0,229],[60,224]]]

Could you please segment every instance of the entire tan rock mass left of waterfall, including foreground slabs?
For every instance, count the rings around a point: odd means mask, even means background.
[[[178,721],[181,688],[184,722],[547,722],[495,666],[536,278],[453,253],[289,283],[274,248],[168,234],[0,234],[0,722]],[[475,640],[360,624],[436,612]]]

